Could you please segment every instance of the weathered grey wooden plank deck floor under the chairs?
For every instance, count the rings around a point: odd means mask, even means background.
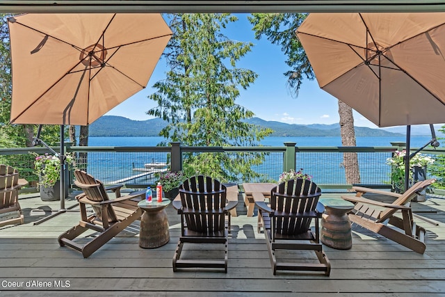
[[[339,197],[324,193],[323,198]],[[280,273],[270,268],[257,217],[247,217],[239,196],[232,218],[227,274],[205,269],[173,273],[172,256],[179,236],[179,216],[168,207],[170,242],[145,250],[138,246],[138,223],[121,232],[88,259],[60,248],[57,237],[79,220],[76,208],[39,225],[33,222],[58,210],[59,202],[42,202],[37,194],[20,196],[24,225],[0,228],[1,296],[444,296],[445,199],[413,202],[416,222],[427,232],[426,252],[403,246],[353,227],[353,248],[325,247],[330,277]],[[69,198],[66,207],[75,204]],[[255,210],[256,213],[256,210]],[[426,219],[421,220],[420,218]],[[94,234],[93,234],[94,235]],[[213,246],[185,246],[184,255],[220,252]],[[216,255],[218,256],[218,255]],[[305,252],[289,256],[307,259]],[[310,255],[312,257],[312,254]]]

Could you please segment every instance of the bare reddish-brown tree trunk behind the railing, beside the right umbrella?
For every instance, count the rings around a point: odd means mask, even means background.
[[[355,147],[355,130],[353,109],[339,100],[341,145]],[[345,167],[346,182],[358,184],[360,182],[359,161],[356,152],[343,153],[343,166]]]

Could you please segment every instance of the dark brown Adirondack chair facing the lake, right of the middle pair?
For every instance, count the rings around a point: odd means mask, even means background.
[[[316,210],[321,189],[309,179],[283,182],[270,191],[270,207],[255,202],[264,222],[264,234],[273,274],[284,271],[321,271],[330,275],[330,262],[320,243]],[[315,220],[315,233],[310,224]],[[313,250],[319,263],[296,263],[291,259],[278,260],[277,250]]]

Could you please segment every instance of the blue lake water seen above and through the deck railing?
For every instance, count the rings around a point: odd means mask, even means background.
[[[114,147],[151,147],[163,141],[162,137],[90,137],[90,146],[114,146]],[[359,147],[388,147],[391,142],[404,142],[402,137],[358,137]],[[412,137],[412,147],[421,147],[430,141],[428,136]],[[285,142],[295,142],[300,147],[330,147],[341,146],[340,137],[267,137],[261,141],[262,145],[284,146]],[[389,154],[359,154],[359,167],[363,183],[381,183],[387,180],[389,166],[386,158]],[[88,172],[100,177],[104,182],[114,182],[122,178],[136,175],[133,168],[143,168],[145,163],[152,161],[167,161],[166,153],[154,152],[116,152],[116,153],[89,153]],[[297,168],[305,168],[304,172],[314,175],[319,184],[344,184],[346,183],[342,154],[317,154],[300,153],[297,159]],[[271,153],[259,166],[255,166],[256,172],[264,174],[272,179],[282,172],[282,153]],[[129,183],[154,182],[145,178],[132,179]],[[255,182],[255,181],[251,181]]]

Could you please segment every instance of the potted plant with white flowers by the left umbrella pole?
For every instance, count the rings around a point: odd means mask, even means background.
[[[34,160],[35,174],[39,177],[38,188],[43,201],[60,200],[60,159],[51,154],[36,154]],[[72,154],[66,154],[68,167],[74,165]],[[65,181],[68,180],[68,170],[65,171]],[[65,195],[68,195],[68,183],[65,183]]]

